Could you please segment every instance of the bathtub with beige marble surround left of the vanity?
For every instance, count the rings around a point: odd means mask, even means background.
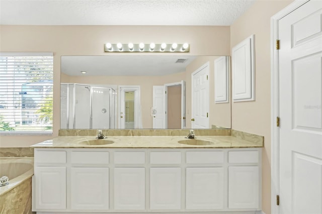
[[[9,184],[0,187],[0,213],[32,213],[33,174],[33,157],[0,158],[0,177],[9,177]]]

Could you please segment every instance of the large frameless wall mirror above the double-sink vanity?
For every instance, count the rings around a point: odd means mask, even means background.
[[[216,66],[219,58],[227,66]],[[222,56],[62,56],[60,128],[230,129],[229,63]],[[226,100],[215,101],[221,94]]]

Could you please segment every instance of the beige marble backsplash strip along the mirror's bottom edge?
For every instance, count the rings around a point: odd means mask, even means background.
[[[196,136],[231,136],[230,129],[195,129]],[[107,129],[105,136],[187,136],[189,129]],[[58,136],[96,136],[97,130],[59,130]]]

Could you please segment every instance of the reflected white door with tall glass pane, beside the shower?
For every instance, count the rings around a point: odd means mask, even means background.
[[[119,128],[141,129],[140,86],[119,86]]]

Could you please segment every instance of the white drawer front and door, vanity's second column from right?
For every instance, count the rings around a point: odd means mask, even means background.
[[[187,151],[186,162],[186,208],[223,209],[224,152]]]

